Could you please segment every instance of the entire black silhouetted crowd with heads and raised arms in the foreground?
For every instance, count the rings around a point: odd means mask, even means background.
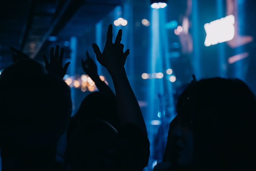
[[[81,64],[99,91],[85,97],[73,117],[71,91],[63,81],[70,64],[62,65],[64,49],[52,47],[43,67],[11,47],[13,64],[0,75],[2,171],[139,171],[147,166],[147,129],[124,68],[130,50],[124,52],[122,30],[114,43],[112,38],[109,25],[103,51],[95,43],[92,47],[115,92],[100,80],[86,52]],[[244,82],[194,76],[176,110],[163,162],[154,170],[256,170],[256,99]]]

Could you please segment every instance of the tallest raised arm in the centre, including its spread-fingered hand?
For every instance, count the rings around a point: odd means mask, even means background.
[[[131,89],[124,68],[130,50],[123,52],[124,45],[120,43],[122,39],[121,29],[117,33],[115,43],[112,43],[112,37],[112,25],[109,25],[103,52],[100,52],[98,45],[95,43],[92,45],[94,52],[97,60],[108,70],[113,79],[121,125],[133,123],[147,133],[139,103]]]

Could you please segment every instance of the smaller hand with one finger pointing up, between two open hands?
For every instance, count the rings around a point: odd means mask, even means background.
[[[83,70],[86,74],[88,74],[90,77],[97,77],[98,71],[97,71],[97,65],[94,62],[93,59],[91,59],[88,51],[86,51],[86,60],[81,59]]]

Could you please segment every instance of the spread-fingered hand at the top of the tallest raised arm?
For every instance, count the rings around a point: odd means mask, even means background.
[[[130,50],[127,49],[123,52],[124,45],[121,44],[122,30],[117,33],[115,43],[112,43],[112,25],[109,25],[106,44],[103,52],[100,52],[99,46],[95,43],[92,44],[97,60],[109,71],[116,71],[120,67],[124,67],[127,56]]]

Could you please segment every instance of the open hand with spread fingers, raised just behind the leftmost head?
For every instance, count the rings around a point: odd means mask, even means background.
[[[67,62],[64,65],[64,67],[62,67],[63,57],[64,57],[64,48],[61,48],[59,53],[59,45],[57,45],[55,47],[55,53],[54,53],[54,47],[52,47],[50,52],[50,63],[48,62],[47,57],[44,55],[45,69],[49,73],[53,73],[63,78],[70,64],[70,62]]]

